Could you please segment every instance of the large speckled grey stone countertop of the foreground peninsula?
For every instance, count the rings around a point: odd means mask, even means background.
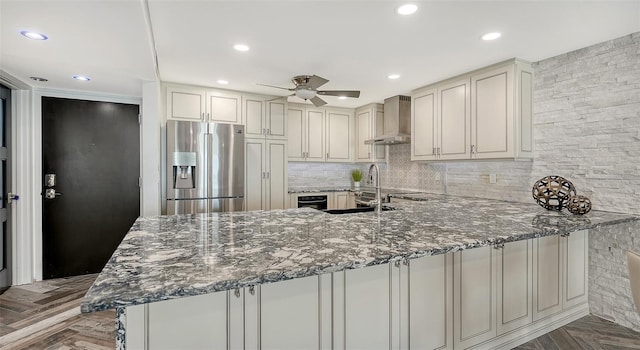
[[[310,208],[139,218],[82,301],[82,312],[613,225],[536,204],[427,195],[397,210],[331,215]]]

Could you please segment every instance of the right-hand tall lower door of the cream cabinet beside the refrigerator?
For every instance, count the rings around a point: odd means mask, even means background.
[[[265,209],[286,209],[287,201],[287,142],[267,141],[267,194]]]

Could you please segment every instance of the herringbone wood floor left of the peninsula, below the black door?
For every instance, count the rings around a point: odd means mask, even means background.
[[[0,349],[114,349],[115,311],[80,314],[80,300],[95,278],[9,288],[0,295]]]

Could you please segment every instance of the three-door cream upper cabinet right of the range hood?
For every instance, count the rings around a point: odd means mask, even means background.
[[[416,90],[411,160],[532,158],[532,85],[513,59]]]

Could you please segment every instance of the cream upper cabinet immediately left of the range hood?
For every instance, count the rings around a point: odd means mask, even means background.
[[[384,106],[380,103],[357,108],[355,111],[355,161],[385,162],[385,146],[367,145],[366,140],[381,134],[384,127]]]

